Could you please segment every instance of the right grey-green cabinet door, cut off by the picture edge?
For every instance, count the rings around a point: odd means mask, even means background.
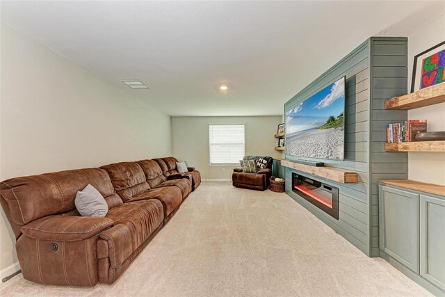
[[[445,290],[445,200],[420,195],[420,274]]]

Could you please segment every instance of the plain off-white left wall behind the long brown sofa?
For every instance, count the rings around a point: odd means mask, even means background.
[[[172,153],[169,115],[5,24],[0,106],[1,180]],[[0,231],[3,277],[17,261],[3,211]]]

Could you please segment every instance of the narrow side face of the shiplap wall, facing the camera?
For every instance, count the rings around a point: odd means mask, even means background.
[[[407,152],[385,152],[386,128],[407,120],[407,111],[386,111],[385,100],[407,94],[406,38],[371,39],[371,256],[380,255],[378,181],[407,179]],[[415,214],[413,214],[414,216]]]

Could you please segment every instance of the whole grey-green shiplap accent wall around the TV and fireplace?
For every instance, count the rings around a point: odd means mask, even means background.
[[[345,160],[327,166],[353,170],[358,184],[339,184],[286,168],[286,193],[366,255],[377,257],[378,179],[407,179],[406,153],[385,152],[386,127],[406,120],[406,111],[385,111],[385,99],[407,93],[407,38],[370,38],[284,104],[284,113],[346,76]],[[385,131],[385,135],[382,134]],[[300,158],[286,155],[289,161]],[[299,172],[339,188],[339,220],[314,207],[291,189]]]

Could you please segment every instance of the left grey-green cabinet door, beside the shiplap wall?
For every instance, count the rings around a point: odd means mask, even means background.
[[[419,195],[380,186],[380,249],[419,273]]]

